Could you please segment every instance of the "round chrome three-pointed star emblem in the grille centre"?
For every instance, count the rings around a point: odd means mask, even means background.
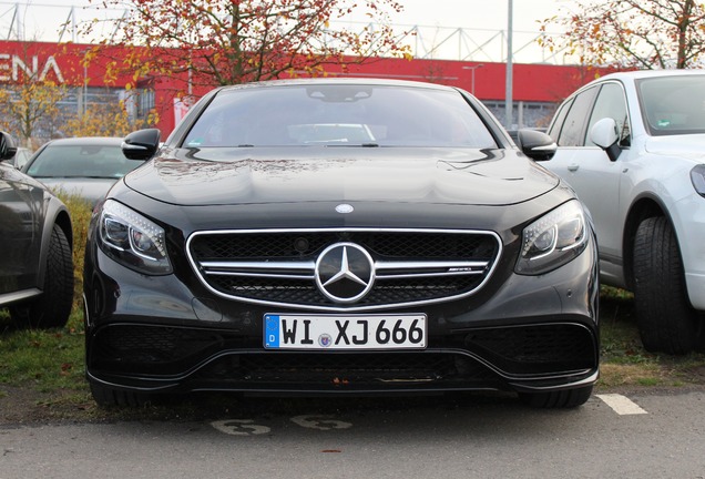
[[[355,303],[375,283],[372,257],[355,243],[328,246],[316,261],[318,289],[336,303]]]

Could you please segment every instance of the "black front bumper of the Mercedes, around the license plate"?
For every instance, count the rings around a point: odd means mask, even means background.
[[[93,247],[84,278],[86,374],[96,384],[145,393],[521,393],[589,386],[599,374],[595,257],[591,244],[541,276],[512,273],[470,298],[387,312],[428,316],[423,350],[311,353],[264,348],[267,307],[218,298],[178,275],[135,274]]]

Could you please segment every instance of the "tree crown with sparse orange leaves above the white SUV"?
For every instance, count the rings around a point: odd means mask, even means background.
[[[696,0],[579,1],[575,12],[546,19],[562,34],[540,40],[593,67],[685,69],[705,51],[705,7]]]

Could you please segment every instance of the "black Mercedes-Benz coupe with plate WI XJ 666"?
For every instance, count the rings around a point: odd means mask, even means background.
[[[94,211],[86,374],[159,394],[510,390],[588,400],[596,252],[573,191],[461,90],[318,79],[219,88],[162,144],[125,137]]]

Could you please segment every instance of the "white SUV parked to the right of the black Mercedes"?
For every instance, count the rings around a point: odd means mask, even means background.
[[[614,73],[559,108],[542,164],[592,213],[603,284],[634,292],[644,347],[705,336],[705,71]]]

